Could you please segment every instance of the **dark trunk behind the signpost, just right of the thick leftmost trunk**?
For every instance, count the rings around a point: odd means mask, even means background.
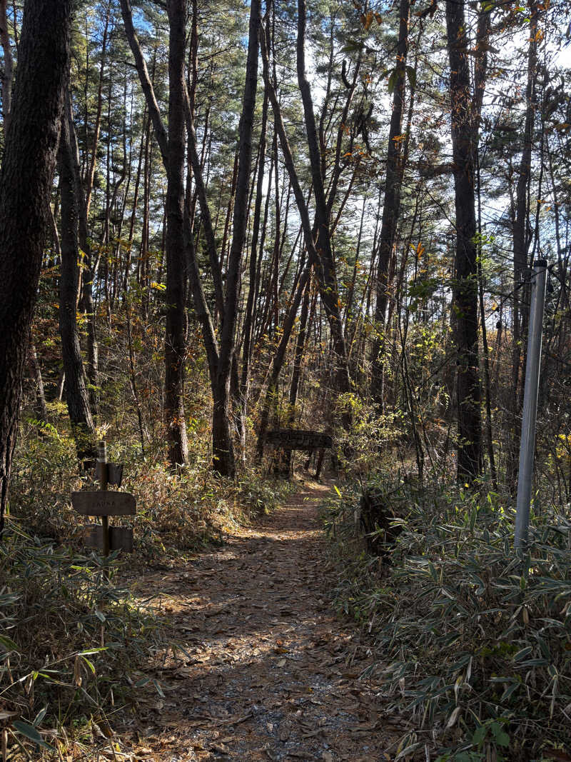
[[[68,94],[69,98],[69,94]],[[79,285],[78,200],[75,195],[75,174],[70,137],[71,102],[62,114],[59,139],[59,191],[61,199],[62,235],[59,278],[59,335],[62,339],[62,360],[65,373],[65,397],[75,447],[80,460],[94,457],[94,425],[89,408],[85,370],[81,359],[77,327]]]

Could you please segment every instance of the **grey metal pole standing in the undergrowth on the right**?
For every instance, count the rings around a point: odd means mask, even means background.
[[[538,417],[539,370],[543,337],[547,261],[534,261],[529,316],[528,360],[525,364],[525,392],[522,417],[522,439],[519,444],[518,501],[515,514],[515,547],[528,541],[531,479],[534,470],[535,424]]]

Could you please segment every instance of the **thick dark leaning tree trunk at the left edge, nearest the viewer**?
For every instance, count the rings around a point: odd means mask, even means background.
[[[0,536],[49,226],[72,0],[27,0],[0,173]]]

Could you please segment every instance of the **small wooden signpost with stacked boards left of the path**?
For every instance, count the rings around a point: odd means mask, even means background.
[[[97,463],[95,476],[99,482],[99,491],[72,492],[72,505],[81,516],[99,516],[100,524],[87,524],[85,544],[98,548],[103,555],[110,550],[132,552],[131,527],[110,527],[110,516],[134,516],[135,498],[129,492],[108,492],[107,485],[119,487],[123,479],[123,466],[107,463],[107,444],[97,445]]]

